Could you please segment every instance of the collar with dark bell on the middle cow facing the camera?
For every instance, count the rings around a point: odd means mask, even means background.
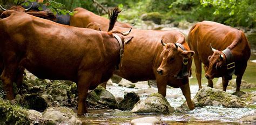
[[[177,46],[179,46],[182,50],[185,50],[185,47],[183,45],[181,45],[180,43],[175,43],[175,44]],[[181,71],[177,75],[174,75],[175,78],[183,79],[185,76],[189,75],[187,72],[187,66],[186,66],[187,64],[188,64],[187,58],[183,58],[183,64],[182,64]]]

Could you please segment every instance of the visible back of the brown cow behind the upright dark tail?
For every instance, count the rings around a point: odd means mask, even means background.
[[[70,25],[75,27],[87,27],[88,24],[95,22],[100,24],[100,29],[103,31],[107,31],[109,27],[109,20],[96,15],[95,13],[88,11],[83,8],[76,8],[75,15],[70,17]],[[131,28],[129,24],[116,22],[115,26]]]

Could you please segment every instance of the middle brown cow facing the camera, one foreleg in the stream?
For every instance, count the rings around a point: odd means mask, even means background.
[[[98,23],[90,23],[89,26],[95,30],[99,27],[104,26]],[[118,26],[114,26],[114,29],[128,30]],[[175,30],[138,29],[133,29],[129,35],[134,38],[131,44],[125,46],[124,57],[119,65],[120,69],[114,71],[114,74],[132,82],[156,79],[158,93],[163,96],[166,95],[166,85],[174,88],[180,87],[188,107],[193,110],[187,72],[190,71],[192,63],[189,58],[194,52],[190,51],[185,36]],[[161,44],[161,40],[167,44]]]

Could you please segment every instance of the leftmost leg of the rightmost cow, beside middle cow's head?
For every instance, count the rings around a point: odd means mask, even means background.
[[[196,77],[198,81],[198,90],[202,88],[201,85],[201,72],[202,72],[202,64],[197,54],[194,55],[194,65],[196,65]]]

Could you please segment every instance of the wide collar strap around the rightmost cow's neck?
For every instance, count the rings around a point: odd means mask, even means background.
[[[235,72],[235,63],[234,63],[234,56],[229,48],[226,48],[222,51],[226,56],[226,64],[227,64],[227,75],[225,75],[225,79],[230,80],[232,79],[232,75]]]

